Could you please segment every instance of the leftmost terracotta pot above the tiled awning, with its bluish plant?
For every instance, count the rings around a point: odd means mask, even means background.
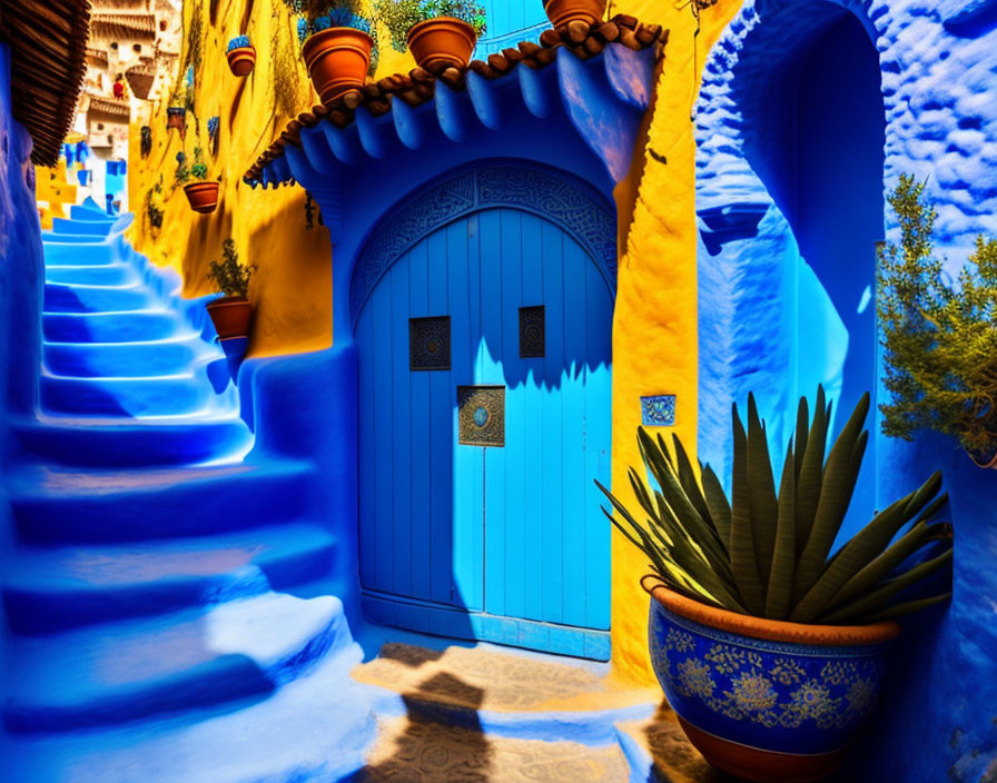
[[[323,103],[359,90],[375,48],[359,0],[284,0],[297,14],[308,76]]]

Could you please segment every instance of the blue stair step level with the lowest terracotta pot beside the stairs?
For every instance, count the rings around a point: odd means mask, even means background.
[[[189,331],[170,310],[46,313],[42,325],[45,339],[50,343],[137,343]]]

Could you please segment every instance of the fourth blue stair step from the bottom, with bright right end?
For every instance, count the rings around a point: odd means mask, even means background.
[[[29,452],[62,465],[121,467],[219,459],[253,440],[246,423],[227,417],[72,418],[39,416],[12,427]]]

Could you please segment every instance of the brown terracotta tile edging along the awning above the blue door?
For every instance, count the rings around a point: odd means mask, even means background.
[[[534,69],[546,68],[554,62],[562,48],[570,49],[581,59],[589,59],[602,53],[609,43],[621,43],[629,49],[641,50],[663,43],[667,39],[668,30],[663,30],[661,26],[641,24],[634,17],[618,14],[610,21],[591,27],[584,22],[572,22],[556,30],[552,28],[540,37],[539,44],[525,41],[515,49],[504,49],[492,54],[487,60],[475,60],[465,69],[447,68],[440,73],[431,73],[423,68],[415,68],[407,75],[396,73],[365,85],[361,91],[299,115],[288,123],[280,137],[257,159],[243,179],[249,184],[259,181],[267,163],[280,158],[287,145],[300,147],[303,128],[314,128],[323,121],[332,122],[337,128],[346,128],[353,123],[359,106],[374,117],[381,117],[391,111],[393,100],[402,100],[411,107],[433,100],[437,80],[454,90],[466,89],[467,71],[474,71],[486,79],[498,79],[521,63]]]

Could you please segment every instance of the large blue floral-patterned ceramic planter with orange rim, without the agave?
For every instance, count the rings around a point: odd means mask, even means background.
[[[832,773],[879,697],[896,623],[799,625],[712,608],[653,576],[651,663],[700,753],[749,781]]]

